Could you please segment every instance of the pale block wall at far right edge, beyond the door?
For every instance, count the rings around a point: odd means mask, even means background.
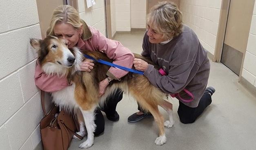
[[[242,77],[256,87],[255,64],[256,64],[256,3],[254,4],[251,28],[249,31],[249,38],[248,38],[247,49],[245,53],[245,60],[244,60],[243,71],[242,71]]]

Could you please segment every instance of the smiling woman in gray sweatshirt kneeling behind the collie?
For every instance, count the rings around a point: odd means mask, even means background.
[[[210,72],[207,52],[194,31],[183,24],[182,13],[176,4],[160,2],[151,9],[142,49],[141,54],[150,57],[164,73],[140,59],[134,60],[134,67],[145,71],[151,84],[176,96],[180,121],[193,123],[211,104],[215,89],[206,88]],[[128,118],[129,122],[152,117],[142,112],[140,106],[138,110]]]

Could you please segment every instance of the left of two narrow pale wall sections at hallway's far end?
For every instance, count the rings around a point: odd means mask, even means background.
[[[116,0],[116,31],[131,31],[131,2]]]

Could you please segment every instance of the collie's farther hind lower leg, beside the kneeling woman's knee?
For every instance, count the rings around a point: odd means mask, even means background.
[[[162,108],[164,108],[168,115],[169,115],[169,120],[165,121],[164,126],[167,128],[170,128],[174,125],[174,119],[173,119],[173,111],[172,111],[172,104],[169,101],[165,101],[163,100],[160,104],[159,104]]]

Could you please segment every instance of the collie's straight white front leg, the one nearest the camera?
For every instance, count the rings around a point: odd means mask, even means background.
[[[87,140],[80,144],[79,148],[89,148],[93,145],[94,141],[94,131],[96,128],[96,125],[94,123],[94,109],[91,110],[81,110],[82,116],[85,120],[85,127],[87,130]]]

